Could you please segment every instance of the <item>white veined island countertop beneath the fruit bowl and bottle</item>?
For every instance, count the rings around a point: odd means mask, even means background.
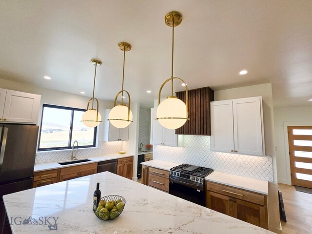
[[[126,199],[114,220],[102,221],[92,211],[97,182],[102,196]],[[4,195],[3,200],[13,234],[42,234],[49,228],[61,234],[273,234],[109,172]]]

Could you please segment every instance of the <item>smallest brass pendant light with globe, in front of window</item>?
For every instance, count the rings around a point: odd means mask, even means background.
[[[91,63],[96,66],[96,69],[94,72],[93,94],[92,94],[92,98],[90,98],[88,101],[87,111],[85,113],[83,113],[82,119],[81,119],[81,122],[89,128],[96,127],[100,124],[100,122],[102,122],[101,121],[102,117],[98,113],[98,99],[94,97],[94,89],[95,89],[95,85],[96,85],[97,65],[98,66],[101,65],[102,62],[99,60],[96,60],[96,59],[91,59]],[[94,100],[97,101],[97,109],[94,109]],[[92,108],[89,109],[89,105],[90,105],[91,101],[92,101]]]

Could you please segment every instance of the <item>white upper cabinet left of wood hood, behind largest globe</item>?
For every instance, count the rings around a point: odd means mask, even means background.
[[[184,136],[176,135],[174,129],[164,128],[158,120],[156,120],[157,108],[152,108],[151,113],[151,144],[182,147],[184,144]]]

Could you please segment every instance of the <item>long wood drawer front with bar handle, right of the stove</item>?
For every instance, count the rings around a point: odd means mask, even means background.
[[[206,182],[206,189],[214,191],[219,194],[232,196],[241,200],[250,201],[259,205],[264,206],[265,196],[260,194],[255,194],[253,192],[248,192],[241,189],[236,189],[230,186],[216,184],[212,182]]]

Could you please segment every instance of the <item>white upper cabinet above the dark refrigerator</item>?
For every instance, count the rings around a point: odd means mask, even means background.
[[[38,122],[40,95],[0,89],[0,122]]]

